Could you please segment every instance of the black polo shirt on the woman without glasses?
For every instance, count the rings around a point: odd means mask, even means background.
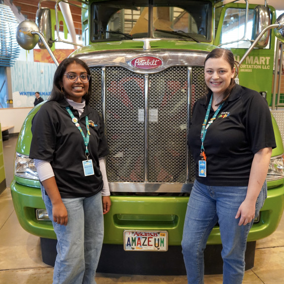
[[[196,163],[196,179],[213,186],[247,186],[254,154],[265,147],[276,147],[267,101],[256,91],[236,85],[208,128],[204,140],[207,177],[198,176],[201,160],[201,128],[211,93],[193,107],[188,144]],[[210,118],[214,110],[211,108]]]

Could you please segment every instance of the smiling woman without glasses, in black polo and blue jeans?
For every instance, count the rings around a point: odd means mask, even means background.
[[[217,222],[223,283],[242,283],[249,230],[267,197],[265,177],[276,147],[271,114],[258,92],[236,84],[235,65],[229,49],[207,55],[208,93],[192,112],[188,145],[196,179],[181,243],[190,284],[204,283],[204,249]]]

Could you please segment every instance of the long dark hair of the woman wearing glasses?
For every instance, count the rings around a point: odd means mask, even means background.
[[[63,75],[65,74],[67,67],[72,63],[76,63],[76,64],[81,65],[84,69],[86,69],[87,74],[91,75],[89,67],[81,59],[78,59],[76,57],[65,58],[59,64],[58,68],[56,69],[56,71],[54,73],[53,87],[52,87],[52,90],[51,90],[50,97],[48,98],[48,101],[61,101],[61,100],[64,100],[66,98],[65,92],[61,88],[61,84],[62,84],[62,81],[63,81]],[[88,92],[82,97],[86,101],[86,105],[88,105],[89,101],[90,101],[91,89],[92,89],[92,77],[89,80]]]

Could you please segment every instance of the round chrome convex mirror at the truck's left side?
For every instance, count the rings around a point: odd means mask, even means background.
[[[22,48],[31,50],[36,46],[39,36],[32,35],[34,31],[38,32],[38,27],[33,21],[26,20],[19,24],[16,30],[16,39]]]

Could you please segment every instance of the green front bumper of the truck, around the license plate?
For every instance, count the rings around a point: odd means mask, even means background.
[[[36,209],[44,209],[39,188],[11,184],[14,207],[21,226],[39,237],[56,239],[50,221],[36,220]],[[105,244],[123,244],[124,230],[167,230],[169,245],[179,246],[182,239],[188,197],[111,196],[112,206],[105,218]],[[272,234],[284,210],[284,185],[270,189],[261,209],[261,218],[254,224],[249,241]],[[92,216],[90,216],[92,217]],[[220,232],[215,227],[209,244],[220,244]]]

